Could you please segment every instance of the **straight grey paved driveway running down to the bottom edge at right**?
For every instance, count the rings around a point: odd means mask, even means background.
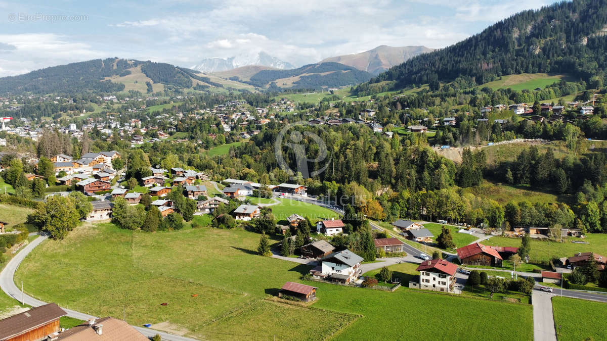
[[[533,303],[533,329],[535,341],[557,341],[552,316],[552,294],[534,289],[531,294]]]

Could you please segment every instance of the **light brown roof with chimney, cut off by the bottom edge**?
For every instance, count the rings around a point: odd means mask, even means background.
[[[129,341],[149,341],[147,337],[139,333],[129,323],[123,320],[114,319],[114,317],[102,317],[101,319],[91,319],[80,325],[67,329],[59,333],[56,338],[49,340],[65,341],[110,341],[110,340],[129,340]]]

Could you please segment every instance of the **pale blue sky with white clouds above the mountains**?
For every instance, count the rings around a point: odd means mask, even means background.
[[[97,58],[191,67],[264,51],[296,66],[380,45],[442,48],[547,0],[0,0],[0,76]]]

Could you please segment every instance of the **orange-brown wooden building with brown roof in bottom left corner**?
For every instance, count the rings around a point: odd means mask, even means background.
[[[0,340],[46,340],[61,331],[59,319],[67,312],[55,303],[37,306],[0,320]]]

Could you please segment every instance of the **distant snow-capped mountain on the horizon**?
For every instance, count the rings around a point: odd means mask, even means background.
[[[230,58],[205,58],[200,64],[190,67],[190,69],[200,72],[220,72],[236,69],[237,67],[247,65],[263,65],[275,67],[276,69],[294,69],[295,66],[289,62],[282,61],[276,57],[268,55],[263,51],[253,53],[242,53]]]

